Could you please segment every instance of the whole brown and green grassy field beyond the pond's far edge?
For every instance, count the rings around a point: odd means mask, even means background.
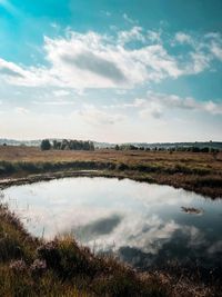
[[[97,170],[90,175],[128,177],[222,197],[222,152],[41,151],[34,147],[0,147],[0,179],[40,174],[38,179],[43,179],[43,174],[70,176],[77,170]]]

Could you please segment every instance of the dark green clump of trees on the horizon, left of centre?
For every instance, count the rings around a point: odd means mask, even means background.
[[[41,150],[94,150],[94,145],[92,141],[83,140],[68,140],[63,139],[61,141],[53,140],[52,142],[49,139],[43,139],[40,145]]]

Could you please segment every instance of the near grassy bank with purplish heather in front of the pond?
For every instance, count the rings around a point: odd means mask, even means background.
[[[0,296],[213,297],[221,287],[184,276],[139,273],[112,257],[95,256],[71,237],[32,238],[0,207]]]

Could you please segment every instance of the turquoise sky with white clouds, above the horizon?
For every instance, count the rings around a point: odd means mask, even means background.
[[[222,1],[0,0],[0,138],[222,141]]]

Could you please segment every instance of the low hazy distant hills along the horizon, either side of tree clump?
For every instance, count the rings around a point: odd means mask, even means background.
[[[53,140],[62,140],[62,139],[49,139],[50,141]],[[69,139],[70,140],[70,139]],[[150,149],[170,149],[170,148],[189,148],[189,147],[196,147],[196,148],[213,148],[222,150],[222,141],[195,141],[195,142],[123,142],[123,143],[109,143],[109,142],[98,142],[92,141],[95,148],[104,149],[104,148],[114,148],[117,145],[132,145],[138,148],[150,148]],[[41,139],[37,140],[14,140],[14,139],[4,139],[0,138],[0,146],[2,145],[7,146],[27,146],[27,147],[39,147],[41,143]]]

